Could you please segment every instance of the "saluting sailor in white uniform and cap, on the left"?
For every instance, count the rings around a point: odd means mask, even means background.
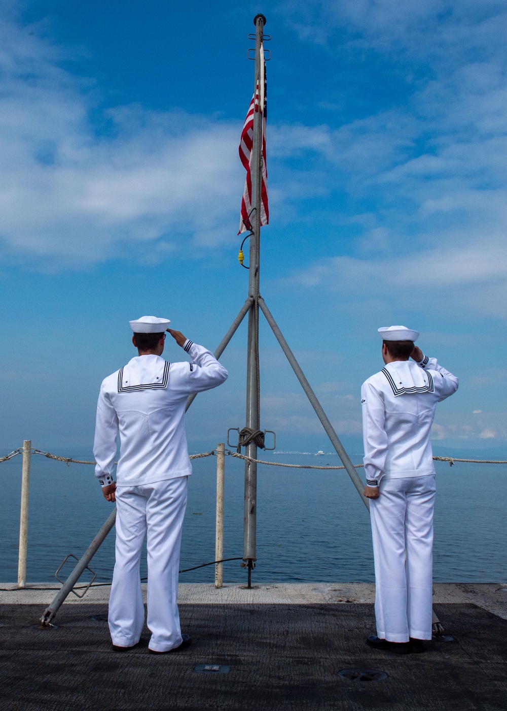
[[[185,403],[191,392],[217,387],[227,370],[214,355],[168,328],[168,319],[130,321],[138,356],[105,378],[97,404],[95,476],[108,501],[116,501],[116,565],[109,598],[115,651],[138,644],[144,625],[139,563],[148,550],[149,651],[190,644],[182,635],[176,597],[187,477],[192,474],[185,437]],[[190,363],[161,358],[165,331],[190,355]],[[120,456],[116,483],[111,474]]]

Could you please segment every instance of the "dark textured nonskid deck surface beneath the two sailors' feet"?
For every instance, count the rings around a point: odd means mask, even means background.
[[[254,591],[249,591],[249,594]],[[505,710],[507,621],[474,604],[437,604],[455,642],[395,656],[366,646],[368,603],[181,604],[193,643],[181,653],[143,646],[111,651],[107,604],[60,609],[58,629],[29,629],[43,611],[0,605],[0,708],[32,711],[304,709]],[[196,665],[227,665],[196,673]],[[371,668],[381,681],[347,680],[344,668]]]

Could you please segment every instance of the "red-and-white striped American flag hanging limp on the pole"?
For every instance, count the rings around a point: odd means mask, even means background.
[[[250,102],[249,111],[246,114],[246,119],[241,132],[241,141],[239,144],[239,157],[241,163],[246,170],[245,189],[243,199],[241,200],[241,218],[239,220],[239,232],[251,230],[251,199],[252,199],[252,145],[254,143],[254,113],[261,111],[262,113],[262,186],[261,186],[261,225],[269,223],[268,210],[268,171],[266,170],[266,117],[267,117],[267,83],[266,83],[266,65],[264,63],[264,52],[261,46],[261,76],[257,80],[256,90]]]

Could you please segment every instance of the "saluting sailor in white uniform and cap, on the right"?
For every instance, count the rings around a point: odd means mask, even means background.
[[[378,333],[386,366],[361,388],[376,582],[377,636],[367,642],[409,653],[432,638],[430,432],[437,402],[456,392],[458,379],[414,346],[418,331],[389,326]]]

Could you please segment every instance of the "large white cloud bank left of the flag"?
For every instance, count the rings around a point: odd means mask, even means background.
[[[239,125],[137,106],[97,125],[92,82],[59,67],[62,50],[9,21],[0,43],[4,262],[153,261],[234,239]]]

